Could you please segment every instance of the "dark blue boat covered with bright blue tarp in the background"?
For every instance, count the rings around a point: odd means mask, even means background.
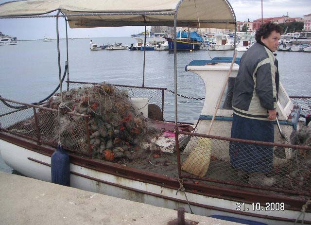
[[[174,49],[174,39],[165,37],[169,44],[169,50]],[[196,32],[179,31],[176,35],[176,49],[177,50],[199,50],[200,45],[203,43],[203,38]]]

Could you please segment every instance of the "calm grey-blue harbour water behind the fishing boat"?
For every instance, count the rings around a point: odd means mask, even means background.
[[[71,81],[107,82],[111,84],[142,85],[143,51],[90,51],[94,44],[121,42],[131,45],[131,37],[69,39],[69,78]],[[311,53],[276,52],[280,81],[289,95],[311,95]],[[61,67],[64,69],[66,40],[60,40]],[[233,56],[233,51],[209,52],[211,57]],[[177,52],[178,93],[190,97],[204,97],[205,87],[201,78],[186,72],[192,60],[209,59],[207,51]],[[243,52],[238,52],[241,57]],[[56,40],[19,41],[17,45],[0,46],[0,95],[20,102],[33,103],[48,96],[58,84]],[[174,89],[173,53],[168,51],[146,52],[145,86]],[[62,70],[63,73],[63,70]],[[64,89],[66,87],[64,86]],[[165,120],[174,120],[173,94],[165,92]],[[178,121],[197,120],[203,100],[178,98]],[[12,169],[0,157],[0,171]]]

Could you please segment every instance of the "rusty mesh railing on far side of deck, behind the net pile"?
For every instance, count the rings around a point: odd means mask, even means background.
[[[92,86],[98,83],[69,81],[69,88],[78,88],[82,86]],[[148,104],[155,104],[161,110],[158,120],[164,120],[164,91],[165,87],[142,87],[129,85],[113,85],[121,91],[126,91],[130,98],[148,98]]]

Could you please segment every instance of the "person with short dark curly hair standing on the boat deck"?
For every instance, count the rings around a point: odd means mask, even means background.
[[[231,138],[274,142],[279,74],[276,56],[282,28],[272,22],[260,26],[256,41],[241,58],[233,90]],[[250,184],[272,186],[273,147],[230,142],[230,162]]]

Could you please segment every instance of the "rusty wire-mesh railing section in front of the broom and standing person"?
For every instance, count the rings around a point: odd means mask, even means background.
[[[180,141],[176,144],[180,179],[190,183],[211,182],[220,189],[244,191],[245,195],[249,191],[269,190],[276,195],[282,193],[283,197],[288,194],[311,196],[310,143],[290,144],[290,137],[286,137],[288,141],[284,143],[273,143],[186,131],[177,133],[179,140],[189,139],[186,147],[180,147]],[[239,153],[242,147],[244,155]],[[235,160],[238,155],[240,159]],[[256,164],[256,159],[261,162]],[[281,199],[278,202],[282,202]]]

